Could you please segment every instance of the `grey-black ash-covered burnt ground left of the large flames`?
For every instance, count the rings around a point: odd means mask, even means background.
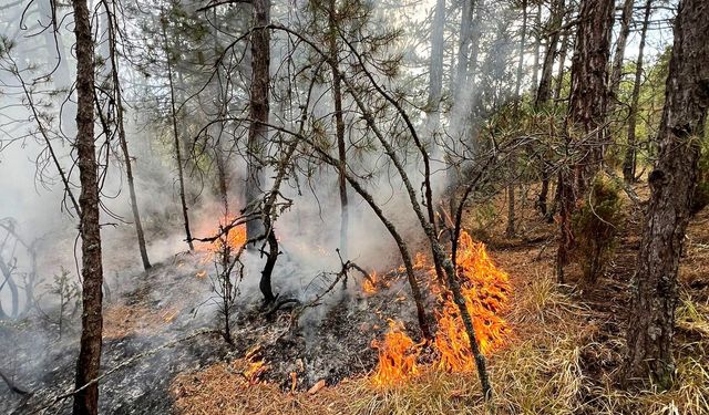
[[[268,366],[261,380],[284,391],[292,387],[292,373],[300,391],[319,381],[333,385],[374,369],[378,356],[371,341],[388,330],[388,319],[418,332],[402,276],[390,272],[381,281],[388,287],[364,294],[361,276],[351,274],[348,287],[338,283],[319,305],[299,313],[282,309],[268,314],[257,291],[242,290],[233,319],[235,345],[229,346],[218,333],[223,318],[212,281],[196,277],[205,268],[196,257],[181,255],[113,282],[111,300],[104,301],[102,374],[122,366],[100,382],[101,413],[174,413],[171,383],[177,374],[254,350]],[[274,284],[278,291],[277,278]],[[314,294],[307,291],[290,294],[307,303]],[[0,371],[30,392],[20,395],[0,384],[0,413],[71,413],[71,397],[56,397],[73,390],[80,315],[61,338],[50,320],[45,311],[34,311],[21,320],[0,321]]]

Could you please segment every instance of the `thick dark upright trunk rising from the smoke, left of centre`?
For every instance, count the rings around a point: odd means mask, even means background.
[[[254,0],[254,27],[263,28],[270,23],[270,0]],[[249,103],[248,156],[246,176],[247,206],[257,204],[260,186],[264,185],[261,158],[268,141],[268,87],[270,83],[270,32],[268,29],[255,29],[251,32],[251,96]],[[265,225],[258,220],[246,224],[247,238],[261,235]]]

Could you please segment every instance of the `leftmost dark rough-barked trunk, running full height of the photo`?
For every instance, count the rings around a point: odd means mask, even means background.
[[[94,144],[94,49],[91,18],[86,0],[73,0],[74,35],[76,37],[76,156],[81,181],[80,235],[82,262],[81,343],[76,360],[76,388],[99,377],[101,335],[103,331],[102,301],[103,266],[101,262],[101,226],[99,209],[99,178]],[[99,413],[96,383],[74,395],[74,415]]]

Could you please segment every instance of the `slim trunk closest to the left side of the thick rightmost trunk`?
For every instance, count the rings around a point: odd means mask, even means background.
[[[623,159],[623,177],[626,181],[635,181],[635,166],[637,157],[637,139],[635,128],[638,124],[638,103],[640,101],[640,84],[643,83],[643,65],[645,53],[645,41],[647,37],[647,28],[653,13],[653,0],[645,2],[645,15],[643,18],[643,28],[640,29],[640,44],[638,45],[638,59],[635,63],[635,83],[633,84],[633,95],[630,97],[630,108],[628,111],[628,139],[625,157]]]

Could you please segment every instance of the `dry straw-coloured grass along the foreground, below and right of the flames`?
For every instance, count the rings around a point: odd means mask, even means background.
[[[607,359],[613,352],[605,345],[621,339],[597,342],[600,328],[588,323],[593,312],[561,292],[551,273],[542,272],[544,267],[526,266],[533,272],[513,278],[515,307],[507,315],[513,338],[490,357],[494,406],[483,403],[474,373],[424,371],[412,382],[386,388],[359,377],[310,395],[254,384],[244,374],[249,363],[238,360],[176,378],[176,407],[182,414],[232,415],[709,413],[709,371],[690,356],[678,359],[678,384],[668,392],[624,392],[613,386],[610,375],[603,382],[589,378],[582,355]],[[697,307],[687,299],[679,321],[706,329],[706,309]]]

